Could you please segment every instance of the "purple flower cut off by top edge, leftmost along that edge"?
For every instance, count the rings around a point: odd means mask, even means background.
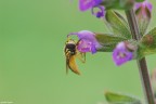
[[[80,11],[87,11],[93,6],[98,6],[101,2],[102,0],[79,0],[79,9]]]

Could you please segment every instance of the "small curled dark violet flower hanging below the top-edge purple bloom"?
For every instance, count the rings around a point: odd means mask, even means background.
[[[98,12],[94,12],[94,8],[92,8],[92,14],[95,15],[98,18],[104,17],[105,16],[105,8],[104,6],[96,6],[99,8]]]

